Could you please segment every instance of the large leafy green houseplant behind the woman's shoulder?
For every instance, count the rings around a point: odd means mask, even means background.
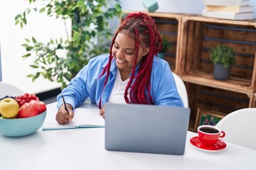
[[[29,74],[34,81],[44,77],[50,81],[57,81],[65,87],[84,67],[90,58],[109,51],[109,41],[112,33],[108,28],[108,21],[122,13],[119,0],[29,0],[30,6],[15,18],[18,26],[26,25],[26,17],[33,12],[46,13],[47,16],[61,18],[63,22],[71,21],[71,36],[50,39],[47,43],[38,42],[34,36],[25,38],[23,47],[26,54],[22,57],[33,57],[30,67],[37,70]],[[68,28],[65,28],[68,32]],[[59,54],[66,54],[65,57]]]

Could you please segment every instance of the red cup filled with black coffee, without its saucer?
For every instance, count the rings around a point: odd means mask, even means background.
[[[215,145],[220,137],[225,137],[225,132],[213,125],[201,125],[198,126],[198,137],[203,145]]]

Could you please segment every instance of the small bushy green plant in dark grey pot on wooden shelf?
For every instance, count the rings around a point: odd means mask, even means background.
[[[235,63],[235,50],[227,45],[217,45],[210,50],[210,60],[214,63],[213,77],[227,80],[230,78],[231,66]]]

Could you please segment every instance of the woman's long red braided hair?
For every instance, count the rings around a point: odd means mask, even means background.
[[[153,103],[150,94],[151,69],[154,60],[154,55],[156,55],[161,50],[163,42],[159,35],[159,31],[156,29],[156,24],[154,20],[146,13],[130,13],[129,15],[127,15],[126,18],[124,18],[122,25],[119,26],[119,28],[117,29],[117,32],[115,33],[114,38],[112,40],[112,45],[110,47],[109,62],[103,69],[102,74],[100,74],[100,77],[102,77],[102,75],[107,72],[107,77],[105,79],[103,89],[107,84],[107,80],[110,74],[110,65],[114,58],[112,55],[112,47],[114,45],[114,41],[117,38],[118,33],[121,33],[124,30],[128,31],[130,35],[134,36],[135,41],[134,64],[129,82],[124,91],[124,99],[127,103],[151,104]],[[142,47],[149,47],[149,53],[142,57],[139,66],[139,72],[135,75],[135,69],[137,67],[137,58],[139,53],[139,45],[141,45]],[[128,91],[130,100],[128,98]],[[148,97],[146,97],[146,94]],[[102,96],[100,97],[99,108],[101,108],[101,99]]]

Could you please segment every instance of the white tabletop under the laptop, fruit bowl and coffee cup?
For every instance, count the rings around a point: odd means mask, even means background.
[[[56,111],[55,103],[47,106]],[[0,136],[0,169],[256,169],[256,150],[227,143],[221,152],[203,152],[189,140],[183,156],[110,152],[104,128],[38,130],[26,137]]]

